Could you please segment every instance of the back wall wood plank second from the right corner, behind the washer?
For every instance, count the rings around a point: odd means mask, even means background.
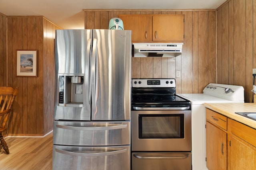
[[[208,84],[208,12],[198,12],[198,92]]]

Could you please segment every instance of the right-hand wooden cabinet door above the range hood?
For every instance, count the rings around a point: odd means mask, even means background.
[[[184,16],[153,16],[153,41],[183,41]]]

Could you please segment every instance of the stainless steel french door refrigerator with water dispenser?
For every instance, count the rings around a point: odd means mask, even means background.
[[[131,31],[56,30],[54,170],[130,170]]]

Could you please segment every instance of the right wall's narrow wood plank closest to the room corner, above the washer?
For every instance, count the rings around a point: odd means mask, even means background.
[[[217,83],[222,83],[222,8],[217,14]]]

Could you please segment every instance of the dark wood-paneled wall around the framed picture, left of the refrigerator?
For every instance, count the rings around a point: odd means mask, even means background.
[[[8,86],[19,86],[8,134],[44,135],[53,126],[54,37],[44,17],[7,17]],[[16,76],[16,50],[37,50],[37,77]]]

